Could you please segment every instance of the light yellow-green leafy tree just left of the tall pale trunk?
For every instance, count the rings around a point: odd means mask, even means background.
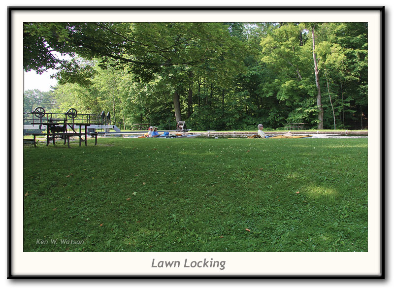
[[[260,95],[268,102],[267,121],[273,126],[286,123],[316,123],[316,102],[311,105],[311,97],[316,95],[313,86],[309,39],[303,24],[272,24],[261,40],[261,63],[264,80],[260,85]]]

